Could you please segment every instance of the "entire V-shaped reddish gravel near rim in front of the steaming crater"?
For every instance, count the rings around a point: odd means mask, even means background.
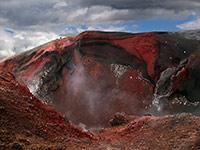
[[[0,149],[200,149],[200,118],[126,116],[129,123],[86,133],[19,85],[0,75]]]

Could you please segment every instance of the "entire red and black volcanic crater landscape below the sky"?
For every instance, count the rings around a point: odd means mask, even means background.
[[[0,148],[200,149],[198,34],[91,31],[5,58]]]

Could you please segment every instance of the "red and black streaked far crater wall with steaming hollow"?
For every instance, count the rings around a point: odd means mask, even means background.
[[[200,40],[189,35],[84,32],[1,67],[83,129],[108,125],[116,112],[198,114]]]

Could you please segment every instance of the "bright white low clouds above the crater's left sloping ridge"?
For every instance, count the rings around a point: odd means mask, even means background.
[[[10,29],[12,30],[12,29]],[[61,31],[62,32],[61,32]],[[14,33],[6,32],[4,29],[0,29],[0,58],[10,55],[14,55],[26,50],[30,50],[34,47],[42,45],[51,40],[55,40],[60,36],[75,36],[86,30],[98,30],[98,31],[127,31],[125,26],[116,25],[87,25],[63,27],[63,29],[54,29],[51,31],[14,31]],[[59,35],[56,33],[60,33]],[[62,35],[63,34],[63,35]]]

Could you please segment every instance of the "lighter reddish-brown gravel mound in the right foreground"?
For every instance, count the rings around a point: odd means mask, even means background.
[[[96,149],[177,149],[200,148],[199,117],[179,114],[163,117],[134,117],[126,125],[107,128]]]

